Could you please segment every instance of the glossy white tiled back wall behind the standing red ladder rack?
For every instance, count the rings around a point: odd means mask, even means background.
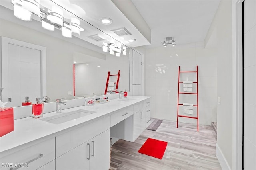
[[[203,43],[176,45],[175,47],[168,45],[166,48],[146,49],[145,96],[152,97],[151,117],[177,120],[178,66],[181,70],[196,70],[197,65],[199,124],[210,125],[212,121],[217,120],[216,50],[212,48],[204,49]],[[186,80],[186,77],[188,77],[188,80],[196,81],[196,74],[192,73],[182,73],[180,80]],[[193,85],[193,89],[193,92],[196,92],[196,84]],[[186,98],[180,94],[179,103],[196,104],[196,96],[188,96]],[[182,111],[182,106],[179,106],[179,114]],[[194,110],[193,116],[196,116],[196,110]],[[179,118],[179,121],[196,123],[196,119],[182,117]]]

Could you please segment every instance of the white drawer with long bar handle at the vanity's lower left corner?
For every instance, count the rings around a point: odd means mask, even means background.
[[[1,157],[1,170],[35,170],[54,159],[55,137]]]

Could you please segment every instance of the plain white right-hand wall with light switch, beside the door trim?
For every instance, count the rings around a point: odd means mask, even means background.
[[[222,168],[232,169],[232,1],[220,2],[204,43],[208,42],[217,45],[217,96],[220,104],[217,105],[216,153],[220,153],[217,156]]]

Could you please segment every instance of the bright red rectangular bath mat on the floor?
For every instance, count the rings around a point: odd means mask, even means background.
[[[162,159],[167,144],[168,143],[164,141],[148,138],[138,152],[158,159]]]

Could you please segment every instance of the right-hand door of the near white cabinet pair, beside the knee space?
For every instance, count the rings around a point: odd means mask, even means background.
[[[110,129],[90,140],[90,170],[108,170],[110,159]]]

